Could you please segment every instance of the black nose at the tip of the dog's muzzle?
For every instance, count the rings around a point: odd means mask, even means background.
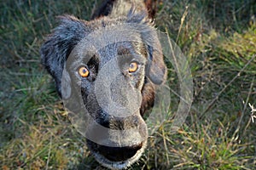
[[[100,154],[105,156],[109,161],[125,161],[135,156],[137,150],[140,150],[142,146],[143,143],[125,147],[109,147],[98,144],[98,150]]]

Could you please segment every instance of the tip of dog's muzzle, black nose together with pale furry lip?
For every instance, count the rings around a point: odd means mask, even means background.
[[[103,166],[111,169],[123,169],[131,166],[133,162],[142,156],[147,140],[140,144],[132,144],[125,147],[110,147],[96,144],[90,140],[87,141],[87,144],[96,161],[101,162]]]

